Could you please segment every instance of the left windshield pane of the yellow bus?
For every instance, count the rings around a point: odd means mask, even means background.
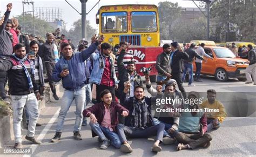
[[[127,32],[127,13],[103,12],[102,32]]]

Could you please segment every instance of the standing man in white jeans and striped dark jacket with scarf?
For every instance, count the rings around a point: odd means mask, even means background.
[[[17,44],[14,47],[15,54],[8,60],[0,63],[0,71],[7,71],[9,81],[9,93],[14,108],[14,135],[15,148],[22,149],[21,121],[23,108],[30,114],[28,133],[25,139],[32,141],[33,144],[40,145],[35,136],[35,127],[39,117],[38,102],[40,93],[35,82],[35,73],[29,59],[25,57],[25,45]]]

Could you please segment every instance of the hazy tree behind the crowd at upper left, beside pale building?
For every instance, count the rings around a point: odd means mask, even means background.
[[[22,26],[22,32],[33,34],[33,17],[31,14],[26,14],[24,16],[23,22],[23,15],[19,15],[15,17],[18,19],[19,25]],[[54,32],[54,28],[50,26],[50,24],[42,19],[35,17],[35,35],[41,36],[45,38],[47,32]]]

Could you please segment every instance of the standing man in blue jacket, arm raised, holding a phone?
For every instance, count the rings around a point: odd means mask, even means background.
[[[65,91],[60,106],[56,134],[51,142],[58,142],[60,140],[66,113],[69,111],[69,107],[74,99],[76,102],[76,121],[73,134],[76,140],[82,140],[79,132],[83,121],[82,112],[85,103],[86,77],[84,61],[91,56],[103,40],[104,37],[96,40],[95,43],[91,44],[90,47],[81,53],[75,54],[73,54],[72,47],[69,43],[63,44],[63,57],[55,65],[52,80],[58,82],[62,79]]]

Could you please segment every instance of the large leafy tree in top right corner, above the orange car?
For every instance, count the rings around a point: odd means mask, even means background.
[[[217,35],[223,41],[256,42],[255,0],[219,0],[211,4],[211,18],[217,21]],[[231,35],[234,35],[232,38]],[[224,35],[224,36],[223,36]]]

